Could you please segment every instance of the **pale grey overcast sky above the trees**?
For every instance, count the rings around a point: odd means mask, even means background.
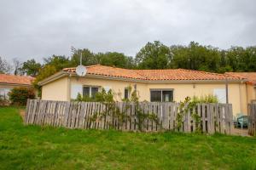
[[[256,45],[255,0],[0,0],[0,56],[37,59],[70,48],[135,56],[154,40]]]

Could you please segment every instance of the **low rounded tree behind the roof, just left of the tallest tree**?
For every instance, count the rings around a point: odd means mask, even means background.
[[[116,66],[127,69],[131,69],[135,66],[132,57],[127,57],[125,54],[117,52],[108,52],[105,54],[99,53],[96,54],[96,59],[100,61],[101,65]]]

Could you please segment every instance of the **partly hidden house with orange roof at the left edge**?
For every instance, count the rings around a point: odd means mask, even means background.
[[[33,77],[0,74],[0,96],[8,99],[8,93],[15,87],[32,87]]]

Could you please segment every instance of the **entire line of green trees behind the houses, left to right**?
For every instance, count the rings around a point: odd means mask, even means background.
[[[49,77],[65,67],[80,64],[82,53],[83,65],[110,65],[129,69],[175,69],[183,68],[198,71],[224,73],[226,71],[256,71],[256,47],[231,47],[227,50],[203,46],[198,42],[190,42],[188,46],[166,46],[162,42],[148,42],[139,50],[136,58],[122,53],[107,52],[94,54],[87,48],[73,51],[71,58],[62,55],[52,55],[44,59],[40,65],[34,59],[27,60],[21,68],[22,73],[37,76],[38,82]],[[0,73],[9,73],[9,64],[0,58]]]

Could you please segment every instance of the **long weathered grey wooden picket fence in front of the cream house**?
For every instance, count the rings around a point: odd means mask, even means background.
[[[177,130],[195,132],[200,127],[204,133],[230,134],[232,105],[199,104],[189,110],[177,129],[179,104],[171,102],[141,102],[139,112],[133,103],[116,102],[115,107],[123,114],[106,114],[108,105],[98,102],[67,102],[29,99],[26,105],[26,124],[50,125],[68,128],[114,128],[123,131],[145,132]],[[192,116],[192,114],[194,114]],[[193,118],[197,115],[199,120]],[[155,118],[157,118],[155,121]]]

